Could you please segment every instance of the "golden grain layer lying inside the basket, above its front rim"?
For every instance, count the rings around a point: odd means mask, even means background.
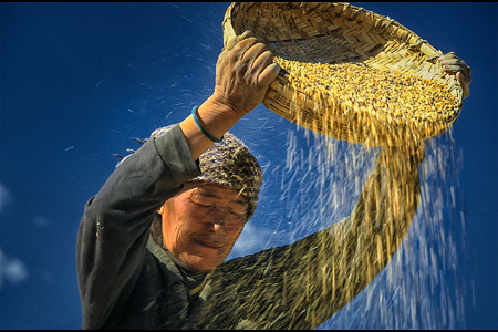
[[[317,101],[325,97],[328,105],[346,103],[374,116],[440,121],[442,116],[450,118],[459,103],[446,85],[397,71],[278,56],[276,62],[289,72],[289,81],[298,91]]]

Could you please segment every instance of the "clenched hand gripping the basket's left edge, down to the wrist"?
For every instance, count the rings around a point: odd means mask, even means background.
[[[231,39],[219,55],[212,97],[243,116],[263,101],[279,72],[273,54],[246,31]]]

